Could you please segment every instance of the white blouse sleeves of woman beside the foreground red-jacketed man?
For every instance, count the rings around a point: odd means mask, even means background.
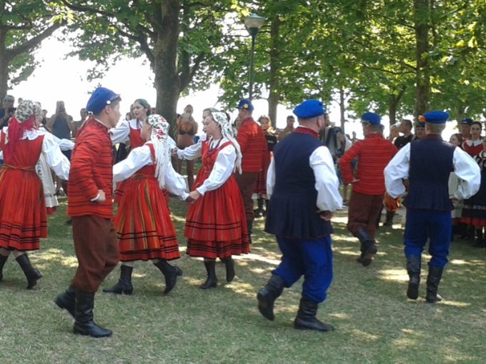
[[[134,175],[140,168],[144,166],[152,166],[152,152],[150,147],[145,144],[138,148],[132,149],[126,159],[113,166],[113,182],[123,181]],[[165,188],[170,193],[179,196],[185,200],[189,193],[187,193],[187,186],[184,177],[174,171],[172,163],[169,163],[164,168]]]

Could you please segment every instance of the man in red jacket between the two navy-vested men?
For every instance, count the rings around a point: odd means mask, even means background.
[[[378,251],[375,231],[385,194],[383,171],[398,149],[382,138],[379,115],[364,113],[361,119],[364,140],[357,141],[344,153],[339,160],[339,166],[344,183],[352,183],[347,229],[361,243],[361,255],[357,261],[365,267],[371,264]],[[355,177],[351,166],[354,158],[358,160]]]

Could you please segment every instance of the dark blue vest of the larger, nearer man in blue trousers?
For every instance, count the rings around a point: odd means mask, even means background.
[[[275,186],[265,231],[276,236],[312,239],[332,233],[317,215],[317,191],[309,157],[324,144],[309,134],[290,133],[274,148]]]

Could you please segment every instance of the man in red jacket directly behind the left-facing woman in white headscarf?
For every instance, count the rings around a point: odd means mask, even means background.
[[[258,173],[262,171],[263,155],[267,152],[267,141],[262,128],[253,120],[252,101],[242,99],[238,103],[237,142],[242,151],[242,174],[234,173],[239,191],[242,193],[244,211],[247,215],[248,237],[252,242],[254,220],[252,194],[257,185]]]

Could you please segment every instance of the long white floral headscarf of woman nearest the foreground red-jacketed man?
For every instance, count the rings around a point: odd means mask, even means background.
[[[165,168],[171,163],[169,145],[167,144],[169,123],[167,123],[164,116],[160,116],[157,113],[149,115],[147,123],[149,126],[152,126],[150,140],[155,151],[155,177],[159,181],[159,187],[165,188]]]

